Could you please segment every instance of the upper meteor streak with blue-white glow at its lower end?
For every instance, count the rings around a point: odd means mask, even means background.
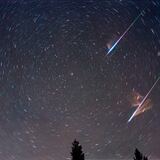
[[[143,11],[142,11],[143,12]],[[120,40],[125,36],[125,34],[130,30],[130,28],[136,23],[139,17],[142,15],[142,12],[134,19],[134,21],[129,25],[129,27],[125,30],[125,32],[121,35],[121,37],[113,44],[113,46],[108,50],[107,55],[109,55],[112,50],[117,46]]]

